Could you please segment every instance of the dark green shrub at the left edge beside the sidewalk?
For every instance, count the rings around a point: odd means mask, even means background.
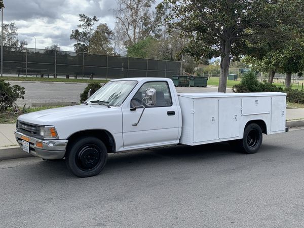
[[[15,101],[18,98],[24,99],[24,94],[24,87],[19,85],[11,86],[11,84],[0,79],[0,111],[5,111],[9,107],[19,111],[19,107]]]

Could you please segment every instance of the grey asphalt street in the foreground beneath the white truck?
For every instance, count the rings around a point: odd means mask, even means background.
[[[110,155],[95,177],[64,161],[0,162],[1,227],[303,227],[304,130]]]

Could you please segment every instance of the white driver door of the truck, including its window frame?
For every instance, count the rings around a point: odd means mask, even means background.
[[[154,106],[130,110],[141,105],[147,88],[156,89]],[[147,82],[141,86],[130,105],[123,108],[123,142],[124,148],[140,148],[147,146],[170,145],[178,143],[179,118],[178,109],[173,105],[167,82]]]

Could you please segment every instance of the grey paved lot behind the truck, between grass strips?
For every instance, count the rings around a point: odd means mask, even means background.
[[[20,85],[25,88],[24,100],[19,99],[17,104],[31,106],[32,103],[42,102],[79,102],[80,94],[84,91],[86,83],[36,83],[36,82],[10,82],[11,85]],[[198,88],[198,87],[176,87],[179,93],[205,93],[217,92],[217,88]],[[232,92],[227,89],[227,92]]]

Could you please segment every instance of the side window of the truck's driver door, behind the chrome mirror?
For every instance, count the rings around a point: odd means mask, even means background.
[[[141,105],[142,99],[145,97],[145,91],[148,88],[156,90],[156,104],[154,106],[146,106],[145,100],[143,105],[145,107],[166,107],[172,105],[171,95],[167,82],[148,82],[143,84],[131,100],[131,107]]]

